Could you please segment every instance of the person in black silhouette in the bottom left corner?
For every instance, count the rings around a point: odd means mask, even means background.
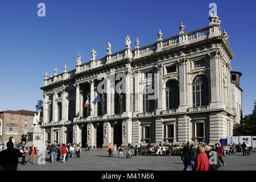
[[[0,152],[0,166],[3,167],[3,171],[17,171],[22,153],[14,148],[13,142],[7,142],[6,146],[7,149]]]

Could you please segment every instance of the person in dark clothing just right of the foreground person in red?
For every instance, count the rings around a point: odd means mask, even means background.
[[[209,158],[210,170],[218,171],[218,168],[221,167],[221,163],[219,162],[219,155],[217,151],[210,146],[205,146],[205,152]]]

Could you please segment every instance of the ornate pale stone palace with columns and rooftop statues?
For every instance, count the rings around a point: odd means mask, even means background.
[[[145,47],[137,38],[131,49],[127,36],[122,51],[111,53],[108,43],[102,59],[95,59],[93,49],[87,63],[78,53],[76,69],[67,72],[65,65],[60,74],[57,69],[54,76],[46,73],[41,88],[45,140],[106,147],[213,144],[233,135],[242,110],[241,73],[231,72],[234,54],[221,20],[209,19],[209,26],[189,33],[181,23],[179,34],[167,39],[159,30],[158,40]],[[98,95],[101,102],[93,104]]]

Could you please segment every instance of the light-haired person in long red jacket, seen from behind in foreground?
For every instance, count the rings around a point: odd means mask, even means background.
[[[205,154],[205,147],[199,147],[200,154],[197,156],[197,163],[195,164],[195,171],[210,171],[210,163],[207,154]]]

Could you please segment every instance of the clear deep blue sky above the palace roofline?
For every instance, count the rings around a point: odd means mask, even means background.
[[[46,17],[37,15],[38,3],[45,3]],[[185,32],[209,25],[209,4],[218,6],[221,27],[229,35],[235,58],[233,71],[242,72],[243,114],[250,114],[255,90],[255,1],[82,1],[82,0],[1,0],[0,2],[0,111],[35,110],[42,100],[47,71],[75,68],[77,52],[82,63],[131,47],[139,38],[140,47],[154,43],[158,30],[163,38],[177,35],[181,22]]]

